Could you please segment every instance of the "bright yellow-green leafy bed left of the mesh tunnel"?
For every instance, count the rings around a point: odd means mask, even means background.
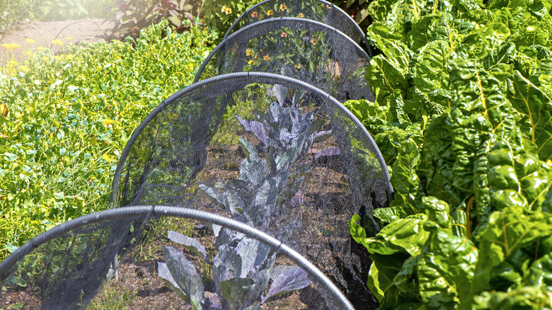
[[[139,122],[192,83],[217,33],[69,45],[0,75],[0,258],[50,227],[105,209],[120,152]]]

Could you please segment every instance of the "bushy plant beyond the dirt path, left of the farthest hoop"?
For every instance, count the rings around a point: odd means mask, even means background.
[[[187,25],[183,21],[193,22],[193,12],[199,11],[205,0],[113,0],[108,9],[115,12],[109,18],[115,23],[113,35],[125,38],[130,35],[137,38],[140,29],[167,19],[173,30],[182,30]]]

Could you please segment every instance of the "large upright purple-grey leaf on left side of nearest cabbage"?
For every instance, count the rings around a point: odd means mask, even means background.
[[[178,284],[182,292],[189,297],[186,300],[191,302],[191,297],[194,297],[198,301],[203,300],[203,283],[190,260],[188,260],[182,252],[178,251],[178,249],[171,246],[163,246],[162,250],[166,266],[168,270],[171,271],[174,283]]]

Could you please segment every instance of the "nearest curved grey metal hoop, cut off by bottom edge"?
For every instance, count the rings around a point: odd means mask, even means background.
[[[38,248],[42,244],[47,243],[48,241],[52,241],[53,239],[62,236],[73,229],[79,228],[86,224],[100,223],[106,220],[146,218],[159,219],[161,217],[180,217],[210,222],[251,236],[258,241],[271,246],[272,248],[276,248],[277,251],[284,253],[289,259],[293,260],[294,263],[299,265],[299,267],[308,272],[309,275],[313,277],[313,280],[316,281],[317,285],[321,285],[326,290],[326,292],[333,295],[333,300],[337,301],[340,304],[339,309],[355,309],[349,302],[349,300],[343,295],[340,289],[338,289],[338,287],[336,287],[333,282],[331,282],[330,279],[328,279],[328,277],[323,274],[323,272],[318,270],[318,268],[310,263],[309,260],[306,260],[303,256],[294,251],[292,248],[289,248],[289,246],[286,246],[277,239],[272,238],[272,236],[265,234],[263,231],[254,229],[253,227],[238,222],[234,219],[229,219],[228,217],[223,217],[219,214],[213,214],[197,209],[188,209],[183,207],[144,205],[107,209],[104,211],[72,219],[71,221],[65,222],[63,224],[59,224],[58,226],[45,231],[39,236],[36,236],[28,243],[25,243],[23,246],[21,246],[21,248],[18,248],[17,251],[13,252],[11,256],[8,256],[5,260],[3,260],[0,263],[0,281],[6,278],[9,270],[11,270],[15,263],[17,263],[19,260],[21,260],[21,258],[26,256],[31,251],[33,251],[35,248]]]

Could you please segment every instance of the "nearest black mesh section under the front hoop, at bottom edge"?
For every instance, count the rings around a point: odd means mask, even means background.
[[[129,245],[121,236],[136,243],[145,233],[161,260],[124,255]],[[136,282],[137,266],[149,265],[157,281],[147,279],[137,293],[158,294],[161,282],[174,292],[169,309],[352,309],[320,270],[280,241],[217,214],[163,206],[89,214],[33,239],[0,263],[2,306],[16,298],[19,309],[96,308],[117,253],[119,280]],[[117,308],[99,308],[109,306]]]

